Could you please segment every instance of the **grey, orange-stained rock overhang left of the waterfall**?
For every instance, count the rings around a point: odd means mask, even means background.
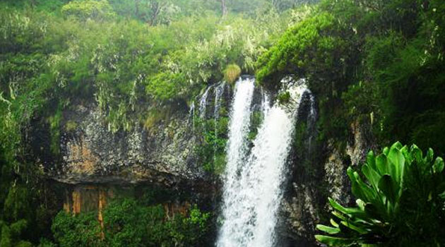
[[[150,130],[136,124],[131,131],[111,133],[95,106],[78,105],[64,112],[73,129],[61,128],[61,164],[45,164],[47,175],[64,183],[175,183],[205,179],[195,162],[196,138],[187,111]],[[66,124],[62,124],[66,126]]]

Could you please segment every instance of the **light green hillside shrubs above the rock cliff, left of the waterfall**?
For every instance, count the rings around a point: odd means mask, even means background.
[[[203,85],[221,80],[227,64],[253,71],[256,56],[283,30],[285,18],[271,11],[256,21],[233,17],[220,22],[209,14],[148,26],[108,18],[110,8],[107,1],[71,1],[62,12],[76,18],[66,19],[2,12],[2,79],[23,97],[32,94],[40,104],[61,104],[57,111],[94,98],[109,131],[128,131],[146,111],[136,102],[188,101]],[[8,83],[2,91],[10,91]],[[44,114],[54,120],[55,130],[54,107]]]

